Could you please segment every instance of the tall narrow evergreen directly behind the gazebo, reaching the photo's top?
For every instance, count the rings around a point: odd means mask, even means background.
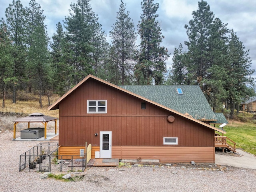
[[[39,94],[39,103],[42,108],[42,96],[50,86],[49,38],[44,25],[43,10],[35,0],[30,1],[27,13],[29,89],[31,90],[31,86],[34,86]]]

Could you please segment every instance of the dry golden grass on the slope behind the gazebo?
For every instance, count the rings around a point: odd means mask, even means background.
[[[51,104],[58,99],[58,95],[53,95],[50,97]],[[2,102],[1,102],[2,103]],[[59,110],[50,110],[48,111],[48,98],[43,96],[42,98],[43,108],[40,108],[39,99],[28,100],[28,101],[16,101],[12,103],[12,100],[5,100],[5,108],[1,107],[1,112],[7,113],[18,113],[24,114],[24,116],[31,113],[43,113],[48,116],[59,117]]]

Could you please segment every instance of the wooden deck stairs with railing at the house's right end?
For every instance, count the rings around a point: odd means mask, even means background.
[[[224,152],[224,148],[234,153],[236,152],[236,143],[232,141],[230,138],[226,136],[220,136],[218,133],[215,133],[214,141],[215,148],[222,148],[222,152]]]

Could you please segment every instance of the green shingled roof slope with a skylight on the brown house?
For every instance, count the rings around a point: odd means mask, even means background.
[[[189,114],[198,120],[217,120],[217,115],[212,111],[202,90],[198,85],[183,86],[147,86],[126,85],[120,86],[130,92],[138,94],[149,100],[157,102],[170,109],[183,114]],[[181,88],[183,94],[178,94],[177,88]],[[223,116],[223,114],[222,114]],[[219,116],[220,117],[220,116]],[[223,116],[224,117],[224,116]],[[223,118],[222,117],[222,118]],[[225,117],[224,117],[225,118]],[[217,122],[215,123],[224,123]],[[225,121],[226,122],[226,121]]]

